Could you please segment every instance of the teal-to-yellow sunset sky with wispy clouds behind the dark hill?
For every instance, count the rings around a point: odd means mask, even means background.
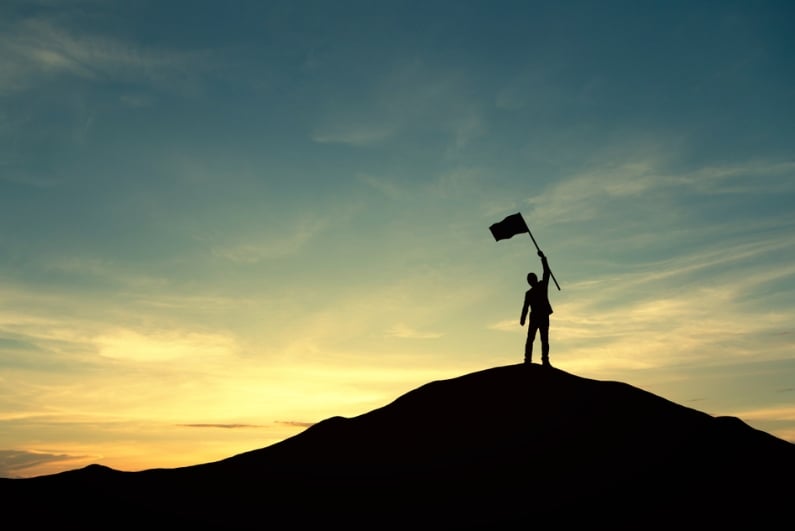
[[[0,3],[0,476],[521,363],[795,442],[789,2]],[[536,347],[538,348],[538,347]]]

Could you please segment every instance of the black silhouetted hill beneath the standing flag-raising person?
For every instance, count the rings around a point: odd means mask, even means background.
[[[221,461],[91,465],[0,494],[6,520],[58,529],[772,529],[793,477],[795,445],[739,419],[512,365]]]

